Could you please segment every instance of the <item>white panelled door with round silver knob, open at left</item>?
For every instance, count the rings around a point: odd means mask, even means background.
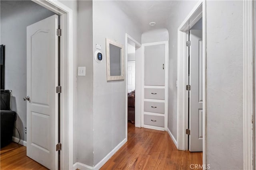
[[[27,27],[27,156],[58,169],[58,16]]]

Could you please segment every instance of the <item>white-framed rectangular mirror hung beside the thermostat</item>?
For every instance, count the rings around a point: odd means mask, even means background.
[[[124,80],[124,45],[106,38],[107,81]]]

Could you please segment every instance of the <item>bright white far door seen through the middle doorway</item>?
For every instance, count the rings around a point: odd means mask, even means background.
[[[127,90],[128,93],[135,90],[135,61],[127,62]]]

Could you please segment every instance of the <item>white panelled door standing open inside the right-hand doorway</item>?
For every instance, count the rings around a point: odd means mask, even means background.
[[[203,150],[202,30],[190,30],[189,150]]]

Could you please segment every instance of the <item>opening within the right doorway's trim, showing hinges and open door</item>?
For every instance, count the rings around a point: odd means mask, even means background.
[[[190,152],[202,152],[202,18],[187,32],[187,42],[187,143]]]

